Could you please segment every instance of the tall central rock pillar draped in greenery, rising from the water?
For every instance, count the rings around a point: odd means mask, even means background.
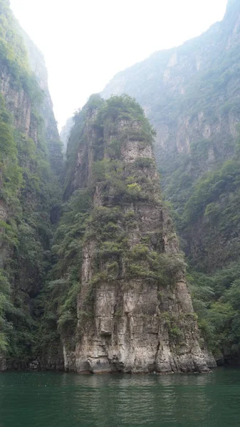
[[[129,97],[92,97],[75,116],[67,153],[70,199],[51,282],[66,370],[207,371],[207,363],[214,365],[200,349],[152,138]],[[61,240],[63,231],[71,240]],[[48,310],[46,319],[53,305]]]

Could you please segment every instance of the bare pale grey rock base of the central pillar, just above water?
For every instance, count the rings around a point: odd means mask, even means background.
[[[158,302],[157,285],[135,280],[127,287],[130,289],[126,290],[122,282],[118,288],[115,284],[98,288],[95,318],[88,322],[75,350],[77,371],[207,371],[196,322],[191,320],[186,283],[179,282],[174,291],[167,290],[162,304]],[[184,344],[180,348],[169,336],[166,313],[182,327]],[[189,319],[181,320],[181,315]]]

